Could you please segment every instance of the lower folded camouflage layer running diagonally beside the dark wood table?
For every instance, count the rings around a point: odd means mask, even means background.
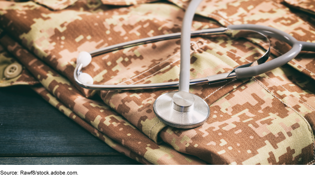
[[[117,147],[120,152],[125,153],[127,149],[130,149],[133,153],[129,152],[126,155],[143,164],[147,164],[147,161],[153,164],[205,164],[200,159],[176,152],[165,143],[157,145],[104,103],[83,97],[69,80],[60,76],[41,60],[36,59],[9,36],[2,37],[0,43],[7,46],[7,49],[36,76],[53,96],[43,87],[35,88],[37,93],[82,127],[87,127],[86,129],[90,132],[91,127],[83,124],[79,120],[80,118],[102,132],[105,136],[101,139],[105,139],[105,143],[114,146],[114,142],[119,142],[125,146],[124,149]],[[98,131],[94,133],[97,136]],[[108,140],[106,140],[107,136]]]

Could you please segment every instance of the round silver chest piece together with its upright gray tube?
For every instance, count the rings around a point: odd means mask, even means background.
[[[201,1],[191,1],[183,18],[178,92],[169,92],[157,97],[153,105],[158,119],[177,128],[198,127],[210,115],[210,109],[205,100],[189,93],[190,28],[195,11]]]

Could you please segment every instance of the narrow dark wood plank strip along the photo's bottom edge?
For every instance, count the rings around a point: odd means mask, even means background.
[[[138,165],[126,156],[0,158],[0,165]]]

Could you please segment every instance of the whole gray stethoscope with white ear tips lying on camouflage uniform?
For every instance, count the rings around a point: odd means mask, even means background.
[[[138,89],[157,89],[179,86],[178,92],[165,93],[154,102],[154,113],[162,122],[167,125],[189,129],[201,126],[207,120],[210,114],[208,104],[201,98],[189,93],[189,85],[200,83],[217,83],[227,80],[251,78],[272,69],[280,67],[295,58],[301,50],[314,51],[315,44],[296,40],[291,35],[280,30],[252,24],[229,25],[227,28],[213,28],[190,32],[192,18],[202,0],[192,0],[186,10],[181,33],[172,33],[138,39],[130,42],[112,45],[105,48],[93,50],[91,52],[80,52],[77,58],[77,66],[74,71],[74,79],[83,88],[94,90],[138,90]],[[232,37],[245,37],[248,40],[264,43],[268,49],[258,60],[236,67],[230,73],[223,73],[206,78],[189,80],[190,74],[190,36],[227,34]],[[292,48],[282,56],[265,63],[270,55],[270,42],[266,35],[283,40]],[[134,84],[134,85],[98,85],[93,84],[93,78],[82,73],[81,69],[92,61],[92,56],[100,55],[106,52],[129,48],[141,44],[157,42],[166,39],[181,38],[181,59],[179,81]],[[249,67],[251,66],[251,67]]]

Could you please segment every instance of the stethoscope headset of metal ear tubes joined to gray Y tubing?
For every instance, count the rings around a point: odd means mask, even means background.
[[[261,26],[261,25],[252,25],[252,24],[242,24],[242,25],[229,25],[227,28],[220,27],[214,29],[204,29],[200,31],[190,32],[192,36],[200,36],[200,35],[209,35],[209,34],[223,34],[229,30],[251,30],[255,32],[260,32],[264,35],[268,35],[279,40],[283,40],[292,48],[284,53],[282,56],[277,57],[271,61],[268,61],[264,64],[259,64],[256,66],[245,67],[245,68],[236,68],[234,69],[234,73],[223,73],[214,76],[208,76],[206,78],[199,78],[189,80],[189,85],[201,84],[201,83],[216,83],[220,81],[230,80],[230,79],[243,79],[243,78],[251,78],[253,76],[257,76],[268,72],[272,69],[280,67],[293,58],[295,58],[301,50],[306,51],[315,51],[315,44],[309,42],[302,42],[296,40],[293,36],[282,32],[280,30]],[[102,53],[114,51],[117,49],[128,48],[132,46],[137,46],[141,44],[147,44],[157,41],[162,41],[165,39],[176,39],[181,36],[180,32],[159,35],[149,38],[143,38],[135,41],[129,41],[105,48],[100,48],[89,52],[92,56],[96,56]],[[189,43],[190,44],[190,43]],[[190,53],[189,53],[190,54]],[[141,90],[141,89],[160,89],[160,88],[169,88],[169,87],[178,87],[179,81],[173,82],[163,82],[163,83],[152,83],[152,84],[129,84],[129,85],[99,85],[99,84],[86,84],[82,83],[79,79],[79,73],[82,69],[82,64],[78,64],[75,68],[74,79],[75,81],[83,88],[93,89],[93,90]]]

